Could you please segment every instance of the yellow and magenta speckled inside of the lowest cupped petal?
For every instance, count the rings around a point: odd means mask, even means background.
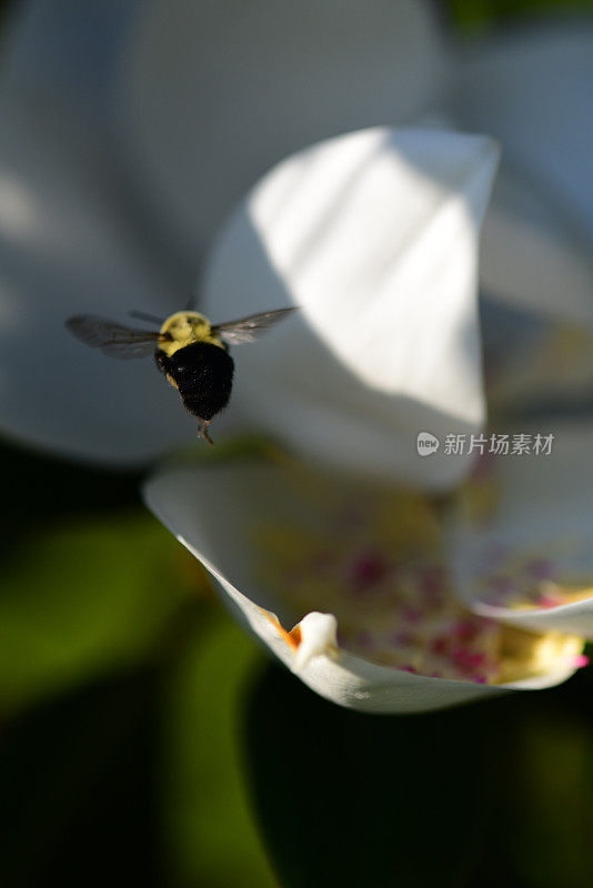
[[[257,529],[261,578],[282,591],[295,619],[311,610],[334,614],[341,648],[420,675],[481,684],[584,665],[582,638],[507,627],[458,602],[426,500],[334,493],[308,514],[306,526],[277,522]]]

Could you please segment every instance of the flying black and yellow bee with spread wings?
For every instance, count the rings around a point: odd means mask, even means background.
[[[66,326],[91,349],[100,349],[110,357],[129,360],[153,354],[158,369],[178,390],[185,410],[198,418],[198,435],[212,444],[208,426],[231,396],[234,361],[229,345],[253,342],[293,311],[294,307],[278,309],[224,324],[211,324],[208,317],[193,311],[175,312],[163,322],[131,312],[161,324],[159,331],[134,330],[94,314],[77,314],[68,319]]]

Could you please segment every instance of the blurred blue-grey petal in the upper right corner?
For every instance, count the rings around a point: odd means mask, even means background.
[[[590,235],[592,79],[593,22],[583,18],[475,41],[456,93],[462,124],[500,138],[507,161],[540,179]]]

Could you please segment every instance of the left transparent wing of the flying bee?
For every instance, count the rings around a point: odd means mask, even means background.
[[[151,330],[133,330],[114,324],[94,314],[77,314],[66,322],[68,330],[91,349],[100,349],[110,357],[131,360],[147,357],[154,352],[161,334]]]

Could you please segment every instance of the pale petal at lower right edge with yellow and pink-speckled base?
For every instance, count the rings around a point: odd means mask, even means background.
[[[507,455],[469,486],[451,525],[463,601],[478,614],[534,632],[593,638],[593,430],[554,435],[552,451]]]

